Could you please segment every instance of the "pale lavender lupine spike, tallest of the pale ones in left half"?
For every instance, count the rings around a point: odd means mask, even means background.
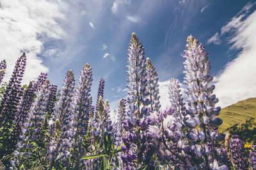
[[[86,63],[79,74],[79,80],[72,98],[72,115],[70,125],[72,126],[72,129],[74,129],[74,137],[76,136],[74,143],[74,152],[76,152],[75,155],[77,155],[76,161],[79,161],[81,155],[84,153],[82,143],[84,135],[88,130],[91,86],[92,68],[88,63]],[[81,165],[77,163],[76,167],[79,166]]]

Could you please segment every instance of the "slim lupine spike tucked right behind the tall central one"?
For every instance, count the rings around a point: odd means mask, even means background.
[[[152,111],[159,111],[159,108],[161,107],[159,102],[159,85],[158,85],[158,78],[157,73],[155,70],[155,67],[150,62],[150,59],[147,58],[146,61],[146,70],[147,70],[147,89],[148,89],[148,98],[150,100],[150,109]]]

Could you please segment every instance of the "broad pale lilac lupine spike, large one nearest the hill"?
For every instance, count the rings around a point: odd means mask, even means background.
[[[212,168],[214,165],[214,159],[217,156],[214,154],[217,152],[218,148],[214,148],[214,152],[209,152],[207,146],[207,139],[212,141],[220,142],[225,136],[219,134],[218,126],[222,124],[222,120],[217,116],[220,114],[220,107],[215,107],[218,103],[218,98],[212,91],[214,90],[214,85],[211,85],[212,76],[210,74],[210,60],[208,53],[205,51],[205,47],[202,43],[193,38],[193,36],[188,36],[188,44],[186,48],[188,50],[184,51],[184,83],[187,85],[186,94],[188,94],[189,108],[186,111],[190,118],[186,120],[186,125],[188,125],[191,130],[188,131],[186,137],[191,141],[191,143],[200,143],[202,141],[202,157],[204,157],[205,168]],[[196,125],[199,125],[199,129],[194,129]],[[206,128],[207,127],[207,128]],[[200,151],[201,152],[201,151]],[[210,155],[213,157],[212,159]],[[218,155],[219,157],[220,155]],[[218,160],[219,164],[222,163]],[[198,165],[198,162],[194,162]]]

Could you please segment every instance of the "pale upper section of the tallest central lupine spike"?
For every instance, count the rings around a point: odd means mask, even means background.
[[[135,113],[136,110],[139,111],[140,117],[142,115],[149,115],[148,104],[150,104],[150,101],[148,99],[149,93],[146,88],[147,72],[144,53],[144,48],[141,45],[141,42],[133,32],[127,53],[127,112],[129,116],[132,117],[135,115],[131,114]],[[132,121],[134,122],[135,118],[132,118]]]

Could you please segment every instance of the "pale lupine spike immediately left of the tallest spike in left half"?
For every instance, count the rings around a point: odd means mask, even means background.
[[[72,146],[72,138],[68,135],[68,117],[70,116],[70,104],[74,92],[75,78],[72,70],[67,72],[63,86],[60,90],[60,97],[56,102],[53,124],[51,131],[54,136],[51,136],[48,146],[49,156],[47,159],[51,160],[51,166],[58,167],[58,162],[62,166],[67,166],[67,159],[70,157],[70,148]]]

